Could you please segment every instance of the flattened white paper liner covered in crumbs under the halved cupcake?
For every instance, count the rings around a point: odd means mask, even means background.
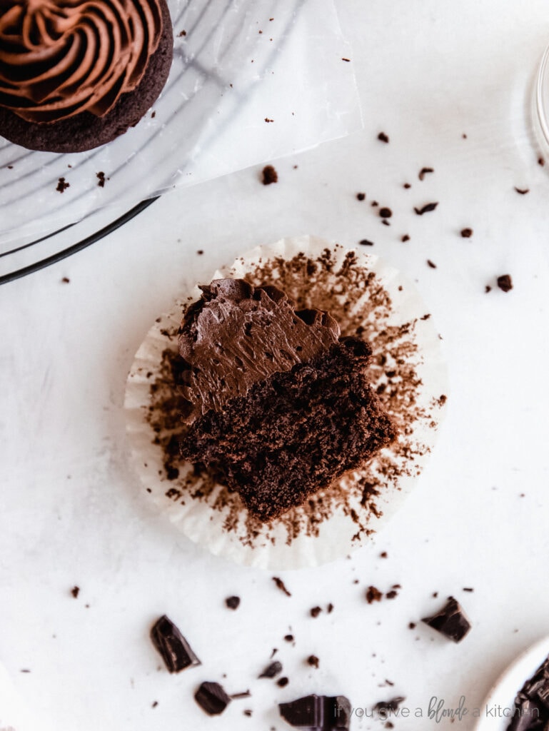
[[[211,279],[232,276],[284,289],[298,308],[330,311],[342,335],[371,343],[369,377],[398,438],[359,470],[264,525],[236,493],[178,458],[174,364],[183,293],[137,351],[126,385],[127,433],[143,489],[172,523],[212,553],[268,569],[316,566],[379,531],[412,490],[447,401],[439,334],[414,285],[378,257],[313,236],[257,246]]]

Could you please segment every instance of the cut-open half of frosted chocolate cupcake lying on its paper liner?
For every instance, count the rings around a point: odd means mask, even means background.
[[[371,348],[327,312],[270,285],[200,287],[178,339],[181,456],[237,491],[262,521],[362,466],[395,438],[368,382]]]

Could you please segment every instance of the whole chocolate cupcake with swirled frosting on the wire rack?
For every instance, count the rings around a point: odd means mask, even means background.
[[[166,83],[165,0],[0,0],[0,135],[82,152],[134,126]]]

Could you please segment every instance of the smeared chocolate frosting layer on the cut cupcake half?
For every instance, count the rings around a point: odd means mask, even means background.
[[[295,310],[273,286],[217,279],[186,312],[179,352],[186,362],[183,395],[192,422],[274,373],[290,371],[338,341],[339,326],[321,310]]]

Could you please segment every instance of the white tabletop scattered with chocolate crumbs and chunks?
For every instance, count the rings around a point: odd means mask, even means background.
[[[403,695],[410,716],[396,728],[469,731],[496,677],[549,634],[549,162],[537,163],[529,122],[546,4],[338,0],[338,10],[363,132],[276,161],[276,185],[262,186],[257,166],[169,194],[90,249],[0,287],[0,659],[37,728],[282,731],[276,702],[317,692],[355,708]],[[420,182],[424,166],[435,172]],[[390,227],[371,200],[392,208]],[[431,201],[436,211],[414,214]],[[305,232],[371,239],[416,281],[452,387],[402,510],[352,558],[282,574],[287,597],[270,574],[191,545],[141,499],[121,404],[135,349],[182,288]],[[507,293],[495,286],[504,273]],[[367,586],[395,583],[396,599],[366,603]],[[230,594],[242,598],[235,612]],[[408,628],[449,594],[472,619],[463,643]],[[327,602],[333,613],[308,616]],[[148,629],[161,613],[201,667],[159,669]],[[285,688],[256,679],[275,647]],[[318,670],[303,662],[311,653]],[[192,698],[202,680],[252,697],[211,719]],[[461,720],[426,718],[432,697],[454,708],[461,696]]]

